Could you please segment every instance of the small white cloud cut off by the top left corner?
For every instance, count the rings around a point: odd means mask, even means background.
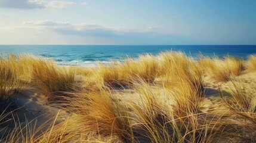
[[[72,1],[45,1],[45,0],[0,0],[0,7],[17,9],[50,8],[65,10],[66,7],[75,5]]]

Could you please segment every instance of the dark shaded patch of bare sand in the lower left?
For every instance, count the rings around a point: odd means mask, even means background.
[[[31,135],[40,135],[51,128],[55,119],[55,124],[58,124],[67,117],[65,111],[46,104],[44,95],[36,89],[14,94],[8,102],[8,106],[2,109],[9,114],[0,123],[0,142],[5,141],[11,133],[24,136],[29,131]]]

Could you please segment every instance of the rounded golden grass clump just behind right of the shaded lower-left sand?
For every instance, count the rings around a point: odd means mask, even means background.
[[[74,91],[75,70],[70,67],[60,67],[54,61],[41,58],[33,60],[32,67],[33,82],[48,100],[54,100],[54,95]]]

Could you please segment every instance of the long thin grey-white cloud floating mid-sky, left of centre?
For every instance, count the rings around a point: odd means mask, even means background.
[[[78,23],[71,24],[67,22],[58,22],[50,20],[42,21],[25,21],[24,26],[42,26],[64,35],[80,35],[80,36],[127,36],[136,34],[154,34],[153,27],[146,27],[145,29],[135,29],[131,27],[104,27],[94,23]]]

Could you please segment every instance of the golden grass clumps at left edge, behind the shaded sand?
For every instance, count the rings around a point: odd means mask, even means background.
[[[32,55],[10,55],[1,58],[0,62],[0,95],[3,99],[24,88],[27,83],[41,89],[48,100],[54,94],[74,89],[76,69],[57,66],[53,60]]]

